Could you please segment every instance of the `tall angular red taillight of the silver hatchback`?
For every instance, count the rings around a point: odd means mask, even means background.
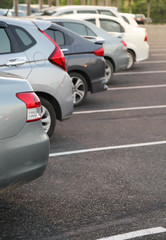
[[[49,56],[48,60],[67,72],[65,57],[58,44],[50,36],[48,36],[47,33],[42,30],[40,30],[40,32],[42,32],[55,45],[55,49]]]

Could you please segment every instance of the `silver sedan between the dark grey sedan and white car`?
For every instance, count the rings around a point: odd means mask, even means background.
[[[128,55],[127,45],[123,39],[111,36],[90,22],[79,20],[78,14],[62,16],[62,18],[49,17],[48,19],[88,39],[93,40],[96,37],[104,39],[105,76],[108,83],[111,81],[114,72],[126,70]]]

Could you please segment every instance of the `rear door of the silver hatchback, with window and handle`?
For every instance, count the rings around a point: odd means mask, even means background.
[[[32,42],[24,29],[0,24],[0,70],[27,78],[31,65],[25,50]]]

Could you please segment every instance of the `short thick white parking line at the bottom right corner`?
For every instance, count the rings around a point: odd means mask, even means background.
[[[138,230],[135,232],[129,232],[129,233],[124,233],[124,234],[120,234],[120,235],[115,235],[112,237],[100,238],[98,240],[126,240],[126,239],[144,237],[144,236],[159,234],[159,233],[164,233],[164,232],[166,232],[166,228],[156,227],[156,228],[143,229],[143,230]]]

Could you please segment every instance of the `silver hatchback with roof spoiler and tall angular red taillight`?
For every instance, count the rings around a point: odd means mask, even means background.
[[[44,34],[51,22],[0,17],[1,71],[26,78],[42,104],[42,124],[49,136],[56,119],[73,111],[72,81],[59,46]]]

